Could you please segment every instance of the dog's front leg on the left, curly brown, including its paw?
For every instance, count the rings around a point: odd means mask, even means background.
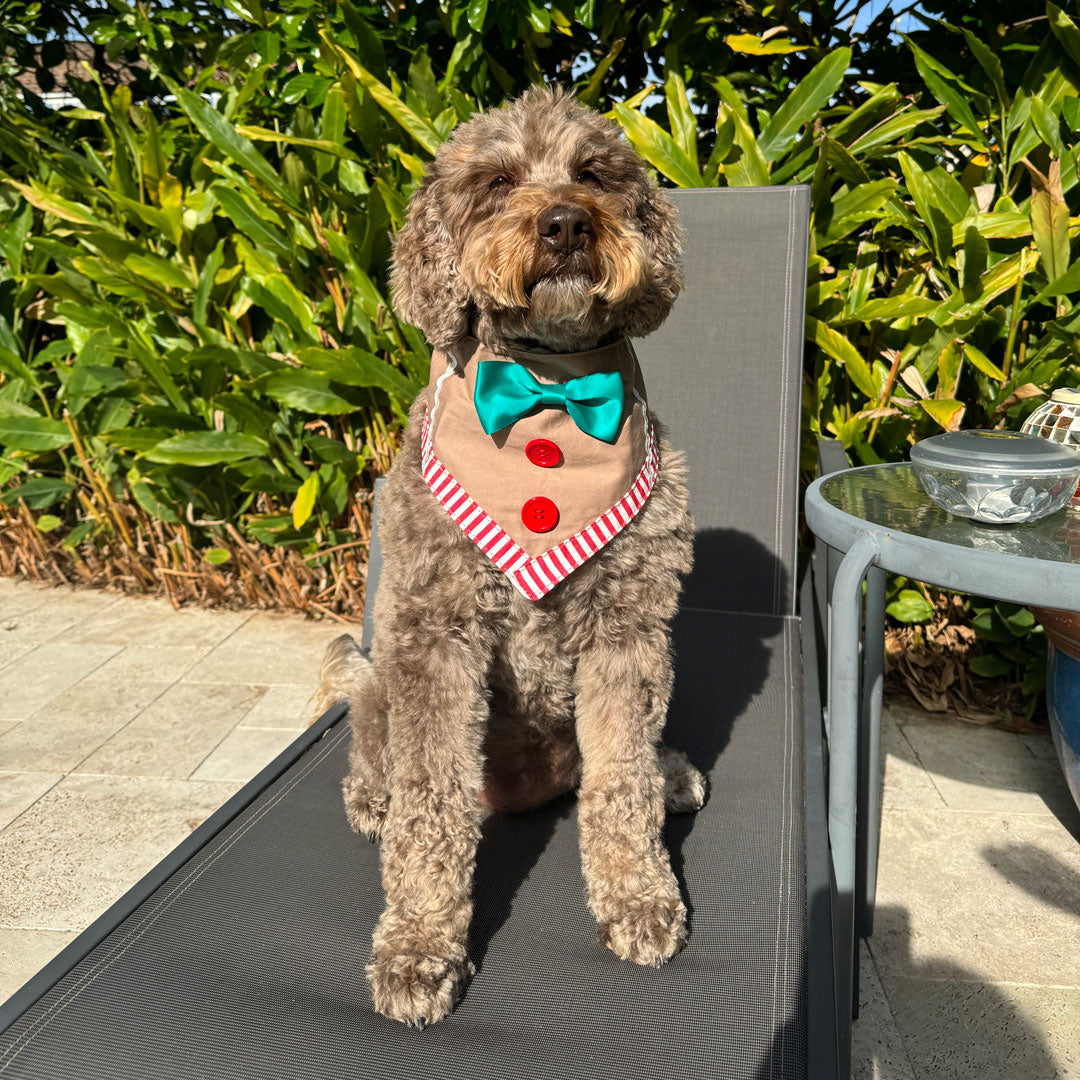
[[[367,977],[380,1013],[419,1027],[454,1008],[473,971],[467,937],[489,654],[478,627],[426,625],[388,662],[387,907]]]

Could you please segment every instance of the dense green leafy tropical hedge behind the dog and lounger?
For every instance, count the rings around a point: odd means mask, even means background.
[[[821,434],[872,462],[1017,426],[1076,381],[1080,29],[1026,0],[866,6],[5,5],[4,500],[72,552],[113,504],[211,561],[226,523],[309,562],[348,543],[427,363],[389,234],[454,126],[541,79],[664,183],[811,186],[808,471]],[[92,67],[51,111],[11,71],[77,32]]]

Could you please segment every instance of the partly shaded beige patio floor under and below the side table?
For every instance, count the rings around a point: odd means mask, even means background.
[[[1080,1077],[1080,812],[1049,738],[887,711],[856,1080]]]

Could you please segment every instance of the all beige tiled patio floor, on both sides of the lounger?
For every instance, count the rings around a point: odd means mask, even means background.
[[[283,748],[332,623],[0,579],[0,1000]],[[1080,813],[1049,739],[888,711],[858,1080],[1080,1080]]]

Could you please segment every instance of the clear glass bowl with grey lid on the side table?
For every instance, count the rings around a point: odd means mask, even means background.
[[[912,463],[943,510],[1001,525],[1061,510],[1080,481],[1080,450],[1017,431],[947,431],[916,443]]]

